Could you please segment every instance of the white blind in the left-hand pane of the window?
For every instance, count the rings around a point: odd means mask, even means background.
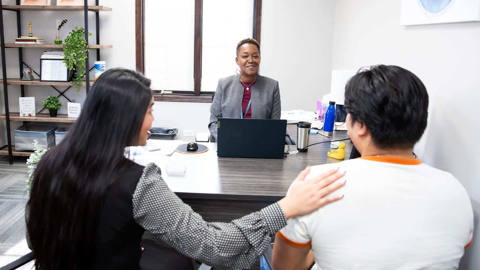
[[[145,75],[154,90],[193,92],[194,0],[145,0]]]

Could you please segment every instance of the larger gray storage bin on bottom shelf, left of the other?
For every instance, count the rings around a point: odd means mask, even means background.
[[[48,149],[55,146],[55,126],[24,124],[15,129],[15,150],[16,151],[32,151],[33,140],[37,140],[38,144]]]

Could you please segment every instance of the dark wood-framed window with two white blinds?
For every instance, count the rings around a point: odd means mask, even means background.
[[[136,0],[136,67],[155,100],[211,102],[235,47],[260,42],[261,0]]]

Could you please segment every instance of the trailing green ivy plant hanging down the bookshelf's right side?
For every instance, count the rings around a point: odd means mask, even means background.
[[[88,33],[92,36],[92,33]],[[80,94],[82,89],[82,78],[85,76],[85,59],[87,58],[88,45],[85,40],[85,29],[83,27],[75,29],[68,33],[64,40],[63,62],[69,70],[74,70],[72,77],[72,86]]]

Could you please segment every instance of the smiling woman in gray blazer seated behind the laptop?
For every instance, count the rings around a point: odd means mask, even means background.
[[[210,106],[210,139],[217,140],[217,120],[227,118],[280,119],[280,89],[278,82],[258,74],[260,45],[253,38],[237,44],[240,74],[218,80]]]

